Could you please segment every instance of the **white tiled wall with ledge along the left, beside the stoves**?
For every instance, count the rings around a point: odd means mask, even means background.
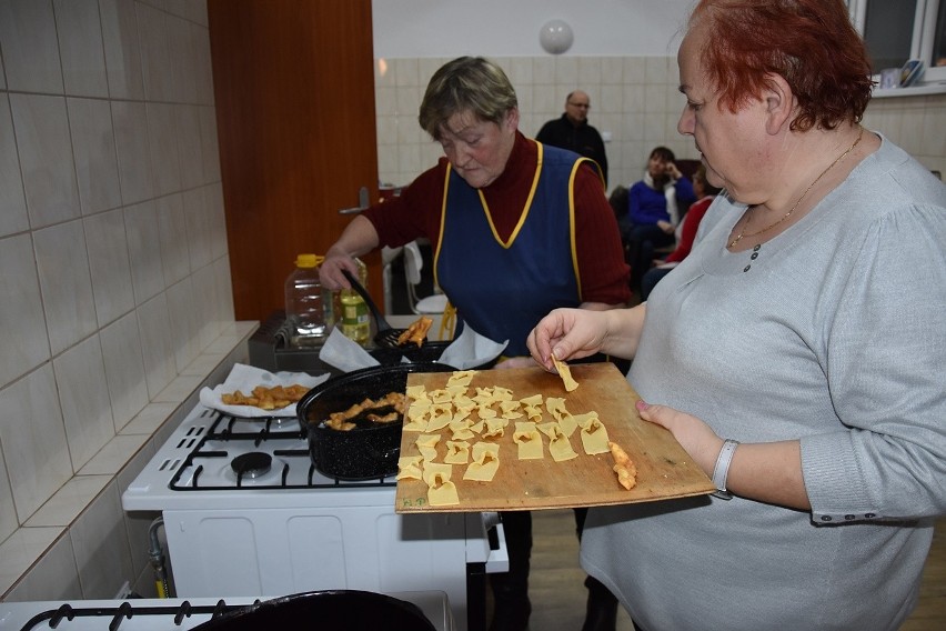
[[[0,0],[0,597],[153,593],[121,491],[253,325],[204,0]]]

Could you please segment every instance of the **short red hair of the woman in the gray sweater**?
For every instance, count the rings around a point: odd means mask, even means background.
[[[798,99],[791,129],[859,122],[870,100],[870,61],[843,0],[701,0],[691,30],[706,27],[702,67],[719,104],[737,111],[779,74]]]

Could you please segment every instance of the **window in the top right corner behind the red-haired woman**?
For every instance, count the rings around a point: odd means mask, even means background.
[[[875,74],[922,59],[924,83],[946,81],[946,0],[847,0],[847,7]]]

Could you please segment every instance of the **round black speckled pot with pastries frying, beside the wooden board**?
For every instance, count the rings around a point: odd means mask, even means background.
[[[350,431],[325,427],[333,412],[348,410],[365,399],[404,392],[411,372],[449,372],[442,363],[402,363],[354,370],[333,377],[310,390],[296,404],[299,421],[309,430],[309,453],[315,468],[339,480],[370,480],[397,472],[403,419],[374,423]]]

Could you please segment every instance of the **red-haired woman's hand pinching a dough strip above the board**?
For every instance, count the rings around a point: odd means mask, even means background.
[[[539,321],[525,343],[533,359],[554,372],[552,353],[558,360],[581,359],[601,350],[607,335],[608,311],[555,309]]]

